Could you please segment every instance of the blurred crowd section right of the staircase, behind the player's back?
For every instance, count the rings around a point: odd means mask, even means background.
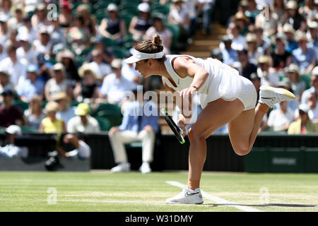
[[[314,0],[242,0],[211,53],[249,78],[257,91],[271,85],[296,95],[276,105],[260,131],[318,131],[317,11]]]

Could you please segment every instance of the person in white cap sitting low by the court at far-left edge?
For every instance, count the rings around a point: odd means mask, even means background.
[[[28,148],[15,144],[16,136],[21,135],[22,131],[19,126],[11,125],[6,128],[6,145],[0,147],[0,157],[28,157]]]

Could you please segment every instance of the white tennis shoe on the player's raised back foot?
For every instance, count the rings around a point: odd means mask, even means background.
[[[259,88],[259,102],[273,108],[277,103],[289,100],[295,100],[295,95],[283,88],[273,88],[271,86],[261,85]]]

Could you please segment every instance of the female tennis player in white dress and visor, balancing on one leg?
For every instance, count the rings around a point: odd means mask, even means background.
[[[217,59],[199,59],[188,55],[165,55],[160,35],[137,44],[126,63],[136,63],[144,78],[162,76],[167,90],[177,91],[183,98],[200,94],[202,112],[188,131],[189,175],[187,186],[180,194],[167,198],[166,203],[203,203],[200,179],[206,160],[206,138],[228,124],[232,148],[237,155],[247,155],[254,144],[264,114],[278,102],[294,100],[288,90],[261,86],[257,92],[251,81]],[[180,114],[177,122],[185,135],[186,120]]]

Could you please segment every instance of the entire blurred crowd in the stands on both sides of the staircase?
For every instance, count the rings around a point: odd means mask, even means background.
[[[1,0],[0,126],[67,132],[68,122],[79,116],[76,106],[85,102],[93,116],[89,121],[98,121],[98,131],[108,131],[120,120],[105,115],[118,117],[126,90],[161,86],[155,77],[144,80],[122,59],[155,33],[166,54],[177,53],[192,43],[198,16],[208,37],[215,4],[216,0]],[[260,131],[289,131],[295,121],[301,128],[290,131],[306,133],[314,128],[307,124],[318,123],[317,11],[314,0],[242,0],[229,19],[228,34],[212,53],[251,79],[257,90],[273,85],[297,95],[294,102],[273,109]],[[106,106],[113,112],[105,113]],[[55,117],[63,123],[54,124]]]

